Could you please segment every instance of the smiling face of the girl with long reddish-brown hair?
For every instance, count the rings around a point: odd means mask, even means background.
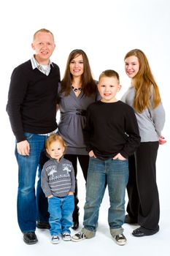
[[[134,78],[139,72],[139,60],[136,56],[125,59],[125,72],[129,78]]]

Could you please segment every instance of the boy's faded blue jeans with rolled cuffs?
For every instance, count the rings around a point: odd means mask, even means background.
[[[84,228],[87,238],[96,234],[98,213],[105,189],[108,185],[109,212],[108,222],[112,236],[123,233],[125,220],[125,187],[128,182],[128,160],[101,160],[90,157],[88,180],[86,184],[86,202]]]

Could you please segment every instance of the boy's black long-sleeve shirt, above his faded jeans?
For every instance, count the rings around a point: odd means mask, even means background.
[[[91,104],[87,110],[84,137],[87,150],[93,150],[100,159],[109,159],[118,153],[128,158],[140,143],[133,108],[121,101]]]

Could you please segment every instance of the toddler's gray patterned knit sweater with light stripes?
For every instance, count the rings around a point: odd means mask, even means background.
[[[42,169],[41,185],[46,197],[64,197],[69,192],[74,192],[75,176],[72,162],[63,157],[60,162],[55,159],[48,160]]]

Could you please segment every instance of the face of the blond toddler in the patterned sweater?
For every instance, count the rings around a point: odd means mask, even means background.
[[[54,141],[50,144],[49,148],[47,148],[47,154],[49,154],[51,158],[56,159],[59,162],[61,157],[63,157],[64,150],[65,147],[59,141]]]

